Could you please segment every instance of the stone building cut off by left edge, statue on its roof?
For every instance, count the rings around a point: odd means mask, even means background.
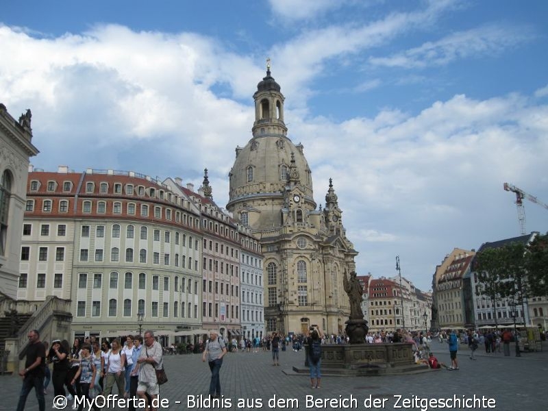
[[[29,158],[36,154],[30,110],[16,121],[0,103],[0,299],[17,297]]]

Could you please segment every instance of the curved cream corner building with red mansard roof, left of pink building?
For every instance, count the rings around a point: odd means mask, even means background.
[[[133,172],[29,173],[17,298],[71,300],[74,336],[201,327],[201,214]]]

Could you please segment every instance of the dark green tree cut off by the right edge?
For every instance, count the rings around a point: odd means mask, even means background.
[[[536,236],[525,253],[530,295],[548,297],[548,234]]]

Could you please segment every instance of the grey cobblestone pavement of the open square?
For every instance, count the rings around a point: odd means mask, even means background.
[[[199,355],[166,356],[165,368],[169,382],[161,388],[164,410],[269,410],[310,409],[334,410],[350,408],[356,410],[471,410],[489,409],[488,406],[438,406],[421,403],[404,403],[423,399],[493,399],[495,410],[546,410],[546,381],[548,375],[548,345],[545,351],[523,353],[516,358],[502,353],[488,354],[482,349],[476,351],[477,360],[469,359],[467,347],[461,346],[458,353],[460,370],[429,371],[414,375],[382,377],[325,377],[321,388],[311,389],[308,375],[295,375],[292,366],[303,364],[304,353],[300,351],[280,352],[281,366],[273,366],[271,353],[229,353],[221,368],[221,406],[200,402],[206,399],[210,381],[207,363]],[[432,342],[432,351],[441,362],[450,364],[447,344]],[[21,379],[16,375],[0,376],[2,399],[0,411],[14,410],[21,389]],[[543,388],[545,387],[545,388]],[[47,410],[53,403],[53,387],[46,396]],[[190,397],[188,397],[190,396]],[[193,397],[192,397],[193,396]],[[202,397],[199,397],[202,396]],[[334,403],[307,402],[306,396],[314,399],[333,399]],[[401,400],[398,401],[398,396]],[[356,399],[356,403],[337,402],[339,399]],[[274,400],[275,399],[275,400]],[[377,400],[364,403],[364,400]],[[271,401],[269,403],[269,400]],[[286,403],[273,403],[273,401]],[[292,401],[289,401],[292,400]],[[169,401],[169,406],[165,401]],[[178,402],[177,402],[178,401]],[[399,408],[397,408],[399,406]],[[160,407],[162,408],[162,407]],[[37,411],[34,391],[27,399],[25,408]],[[113,408],[118,409],[118,408]]]

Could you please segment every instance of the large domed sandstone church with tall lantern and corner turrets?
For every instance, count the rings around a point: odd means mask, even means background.
[[[343,275],[356,269],[358,251],[346,237],[334,184],[329,179],[322,209],[303,145],[287,136],[284,95],[270,66],[253,99],[253,137],[236,148],[227,209],[262,244],[266,331],[299,334],[320,325],[338,334],[349,314]]]

